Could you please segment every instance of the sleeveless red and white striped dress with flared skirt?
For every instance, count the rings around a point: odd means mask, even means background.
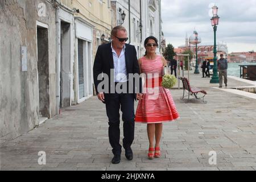
[[[156,60],[141,58],[142,73],[145,74],[143,99],[139,101],[135,122],[163,123],[179,118],[170,90],[161,86],[163,62],[161,56]]]

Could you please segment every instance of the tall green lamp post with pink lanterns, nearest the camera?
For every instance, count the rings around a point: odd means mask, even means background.
[[[213,53],[214,53],[214,65],[213,65],[213,76],[212,79],[210,80],[210,84],[218,84],[218,69],[217,69],[217,46],[216,46],[216,31],[217,31],[217,26],[218,26],[218,19],[220,18],[218,16],[218,7],[214,5],[212,7],[213,10],[213,17],[211,20],[212,22],[212,27],[214,31],[214,48],[213,48]]]

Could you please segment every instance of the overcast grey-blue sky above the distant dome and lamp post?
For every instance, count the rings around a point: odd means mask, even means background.
[[[230,52],[256,52],[256,0],[162,0],[163,32],[174,47],[185,44],[196,30],[202,43],[213,44],[210,7],[218,6],[220,22],[217,42],[228,45]]]

